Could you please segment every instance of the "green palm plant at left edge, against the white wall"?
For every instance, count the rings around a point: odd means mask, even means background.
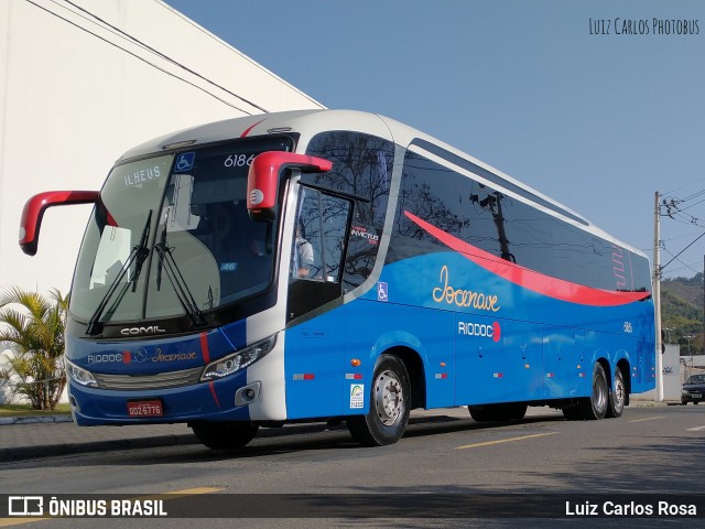
[[[67,306],[68,298],[58,290],[44,296],[14,287],[0,294],[0,346],[10,349],[0,380],[35,410],[53,410],[66,386]]]

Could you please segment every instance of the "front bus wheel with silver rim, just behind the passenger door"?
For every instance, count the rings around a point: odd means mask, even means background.
[[[411,384],[404,363],[381,355],[367,395],[368,413],[347,419],[350,435],[362,446],[394,444],[404,434],[411,412]]]

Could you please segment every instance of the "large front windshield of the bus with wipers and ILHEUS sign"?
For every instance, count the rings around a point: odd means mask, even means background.
[[[257,154],[292,143],[237,140],[117,165],[86,230],[72,314],[91,325],[204,323],[203,312],[265,290],[276,223],[249,218],[247,174]]]

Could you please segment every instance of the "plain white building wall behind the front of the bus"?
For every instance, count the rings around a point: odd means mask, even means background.
[[[128,148],[181,128],[322,107],[160,0],[0,0],[0,291],[70,285],[90,206],[50,208],[28,257],[31,195],[98,190]]]

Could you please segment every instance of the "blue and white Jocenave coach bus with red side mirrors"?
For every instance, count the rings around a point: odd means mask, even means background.
[[[654,387],[644,255],[417,130],[344,110],[196,127],[124,153],[70,291],[79,425],[178,423],[207,446],[344,420],[397,442],[415,408],[619,417]]]

